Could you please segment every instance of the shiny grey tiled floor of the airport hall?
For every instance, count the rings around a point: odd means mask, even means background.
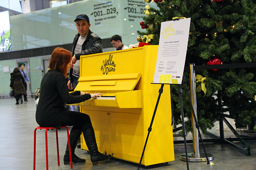
[[[37,125],[35,120],[35,99],[28,99],[20,105],[15,105],[15,99],[0,98],[0,170],[29,170],[33,169],[33,132]],[[213,128],[212,133],[219,132]],[[225,137],[234,137],[230,131],[225,131]],[[187,139],[191,139],[191,134]],[[203,138],[211,138],[203,135]],[[183,140],[181,137],[174,137],[174,140]],[[45,142],[44,130],[37,130],[36,140],[36,169],[45,168]],[[66,131],[59,131],[60,166],[57,165],[55,130],[48,132],[49,169],[69,170],[70,165],[63,164],[63,154],[66,147]],[[240,145],[239,142],[236,142]],[[214,154],[214,165],[207,165],[206,162],[189,162],[189,169],[193,170],[255,170],[256,169],[256,142],[247,144],[251,147],[252,156],[245,156],[243,153],[231,148],[226,144],[204,143],[207,153]],[[201,145],[201,144],[200,144]],[[193,152],[193,144],[188,144],[188,152]],[[203,149],[200,146],[200,152]],[[141,166],[140,169],[161,169],[161,170],[185,170],[187,164],[180,160],[180,155],[185,153],[184,144],[174,144],[175,160],[168,164],[162,163],[151,165],[148,168]],[[85,158],[86,163],[73,164],[74,170],[137,170],[138,164],[120,159],[111,158],[107,162],[92,166],[90,155],[81,149],[76,149],[79,157]],[[154,154],[154,153],[152,153]]]

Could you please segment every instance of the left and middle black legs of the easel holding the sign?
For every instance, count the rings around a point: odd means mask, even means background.
[[[151,132],[151,130],[152,130],[152,124],[153,124],[153,122],[154,122],[154,118],[155,118],[155,115],[156,115],[156,109],[157,109],[157,106],[158,106],[158,103],[159,103],[161,94],[163,93],[163,88],[164,88],[164,84],[162,84],[162,85],[161,85],[161,88],[159,89],[159,95],[158,95],[158,98],[157,98],[157,101],[156,101],[156,107],[155,107],[155,110],[154,110],[154,113],[153,113],[153,116],[152,116],[152,119],[151,119],[150,126],[149,126],[149,128],[148,128],[148,135],[147,135],[147,138],[146,138],[146,141],[145,141],[145,145],[144,145],[144,148],[143,148],[143,151],[142,151],[142,155],[141,155],[141,157],[140,157],[140,163],[139,163],[139,166],[138,166],[138,169],[137,169],[137,170],[140,170],[140,165],[141,165],[142,158],[143,158],[143,155],[144,155],[144,152],[145,152],[145,149],[146,149],[146,145],[147,145],[147,142],[148,142],[148,137],[149,137],[149,134],[150,134],[150,132]],[[183,135],[183,137],[184,137],[185,152],[186,152],[186,160],[187,160],[187,169],[189,170],[189,165],[188,165],[188,149],[187,149],[187,141],[186,141],[187,133],[186,133],[185,122],[184,122],[184,113],[183,113],[183,104],[182,104],[182,89],[181,89],[181,85],[179,85],[179,94],[180,94],[180,111],[181,111],[182,127],[183,127],[182,135]]]

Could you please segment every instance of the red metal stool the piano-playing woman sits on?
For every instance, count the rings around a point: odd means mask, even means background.
[[[60,127],[60,129],[62,129],[62,128],[66,128],[66,129],[67,129],[70,167],[71,167],[71,169],[73,169],[68,127],[67,127],[67,126],[62,126],[62,127]],[[37,129],[40,129],[40,130],[45,129],[46,170],[48,170],[48,141],[47,141],[47,131],[48,131],[49,129],[55,129],[55,130],[56,130],[57,157],[58,157],[58,166],[60,166],[58,129],[56,129],[56,128],[44,128],[44,127],[37,126],[36,129],[34,130],[34,168],[33,168],[33,170],[36,170],[36,130],[37,130]]]

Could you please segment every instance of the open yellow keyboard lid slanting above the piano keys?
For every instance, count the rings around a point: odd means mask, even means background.
[[[140,73],[80,77],[75,90],[83,92],[132,91],[140,77]]]

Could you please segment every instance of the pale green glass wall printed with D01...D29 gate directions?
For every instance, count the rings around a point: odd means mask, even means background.
[[[90,29],[102,39],[119,34],[126,37],[123,43],[127,46],[138,43],[137,30],[141,30],[146,5],[156,8],[156,3],[142,0],[85,0],[11,16],[13,50],[72,43],[77,33],[74,20],[79,14],[88,15]]]

